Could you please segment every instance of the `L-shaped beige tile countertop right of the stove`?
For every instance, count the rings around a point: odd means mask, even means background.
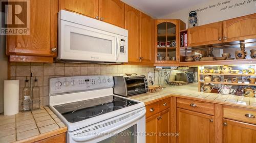
[[[163,99],[164,97],[170,97],[170,96],[190,98],[195,100],[207,100],[209,102],[214,102],[214,103],[228,104],[228,105],[235,105],[235,106],[239,105],[243,107],[256,109],[256,98],[254,97],[198,92],[197,83],[175,86],[175,87],[166,87],[156,93],[145,93],[145,94],[132,96],[129,98],[142,101],[147,105],[156,100],[160,100],[160,99]]]

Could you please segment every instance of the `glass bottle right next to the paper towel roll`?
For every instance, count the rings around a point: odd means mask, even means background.
[[[31,102],[30,102],[30,95],[31,95],[31,90],[29,87],[29,80],[25,80],[25,88],[23,89],[23,101],[22,101],[22,110],[27,111],[31,110]]]

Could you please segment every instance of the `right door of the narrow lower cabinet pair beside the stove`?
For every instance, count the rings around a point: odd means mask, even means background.
[[[158,122],[158,132],[159,132],[159,142],[170,142],[170,111],[169,109],[163,110],[159,113],[159,122]],[[161,135],[160,135],[161,133]]]

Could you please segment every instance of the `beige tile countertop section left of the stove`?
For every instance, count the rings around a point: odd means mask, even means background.
[[[34,142],[66,131],[65,124],[47,106],[0,116],[0,142]]]

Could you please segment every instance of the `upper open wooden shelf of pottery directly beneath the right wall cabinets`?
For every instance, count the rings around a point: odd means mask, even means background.
[[[225,44],[180,47],[180,65],[256,64],[256,39]]]

